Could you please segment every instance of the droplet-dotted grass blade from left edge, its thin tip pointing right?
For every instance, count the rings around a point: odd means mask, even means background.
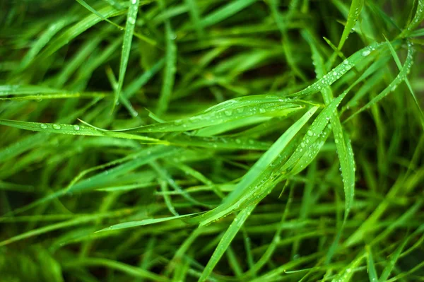
[[[100,131],[94,129],[93,127],[86,127],[78,124],[48,124],[40,122],[20,122],[17,120],[7,120],[0,119],[0,124],[6,125],[8,127],[16,127],[19,129],[31,130],[31,131],[41,131],[45,133],[55,133],[55,134],[70,134],[70,135],[84,135],[84,136],[109,136],[122,139],[135,139],[140,141],[146,141],[151,143],[163,143],[167,144],[167,141],[161,141],[159,139],[154,139],[146,136],[139,136],[134,134],[126,134],[123,132],[113,132],[113,131]]]

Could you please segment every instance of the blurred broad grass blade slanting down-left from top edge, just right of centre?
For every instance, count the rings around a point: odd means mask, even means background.
[[[213,11],[212,13],[204,16],[204,18],[202,18],[200,21],[200,25],[202,28],[206,28],[208,26],[215,25],[216,23],[220,23],[235,13],[242,11],[244,8],[251,6],[256,1],[257,0],[232,1],[231,3],[226,4],[225,6],[216,9],[216,11]]]

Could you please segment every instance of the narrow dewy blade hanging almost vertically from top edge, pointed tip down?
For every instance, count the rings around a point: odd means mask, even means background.
[[[119,64],[118,87],[114,93],[112,112],[115,105],[119,101],[119,95],[121,95],[122,86],[124,85],[124,78],[129,60],[129,52],[131,52],[131,42],[134,35],[134,27],[136,26],[137,13],[139,11],[140,0],[129,0],[129,2],[130,5],[128,8],[128,13],[126,14],[124,40],[122,42],[121,62]]]

